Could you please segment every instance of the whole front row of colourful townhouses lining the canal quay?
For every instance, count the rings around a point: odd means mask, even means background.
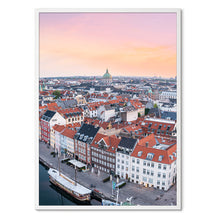
[[[96,170],[117,174],[120,178],[130,179],[146,187],[168,190],[175,183],[177,153],[175,139],[155,134],[139,139],[109,136],[99,133],[100,127],[91,124],[82,124],[78,130],[70,129],[65,124],[65,119],[62,121],[59,115],[55,118],[60,124],[52,125],[56,113],[45,114],[44,116],[48,118],[44,117],[42,122],[51,117],[48,122],[49,127],[51,126],[50,144],[55,151],[74,155],[76,159]],[[45,130],[44,127],[43,123],[42,131]],[[43,140],[49,138],[48,135],[42,137]]]

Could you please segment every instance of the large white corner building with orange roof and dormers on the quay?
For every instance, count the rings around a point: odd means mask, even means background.
[[[131,154],[130,171],[132,182],[168,190],[176,181],[176,142],[154,134],[141,139]]]

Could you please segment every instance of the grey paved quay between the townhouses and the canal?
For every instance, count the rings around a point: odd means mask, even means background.
[[[51,155],[53,149],[43,143],[39,142],[39,159],[46,163],[47,166],[58,169],[58,157]],[[62,158],[61,158],[62,159]],[[66,163],[60,163],[61,172],[71,179],[74,179],[74,168],[68,166]],[[100,172],[99,174],[91,172],[77,172],[77,182],[89,189],[96,189],[103,194],[105,198],[112,199],[112,181],[103,183],[103,179],[108,177],[108,174]],[[49,177],[48,177],[49,181]],[[120,180],[121,182],[122,180]],[[39,184],[41,186],[41,184]],[[92,186],[92,187],[91,187]],[[40,189],[41,190],[41,189]],[[176,205],[176,185],[171,187],[167,192],[146,188],[144,186],[126,182],[126,185],[120,188],[118,201],[125,202],[127,198],[132,197],[132,205],[141,206],[175,206]],[[101,205],[97,203],[95,205]]]

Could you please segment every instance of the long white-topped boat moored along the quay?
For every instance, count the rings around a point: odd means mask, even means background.
[[[90,201],[92,192],[90,189],[76,183],[64,174],[61,174],[58,170],[50,168],[48,174],[51,183],[63,189],[75,199],[79,201]]]

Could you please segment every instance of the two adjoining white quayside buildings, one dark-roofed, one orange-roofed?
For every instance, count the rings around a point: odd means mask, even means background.
[[[175,140],[154,134],[132,144],[125,140],[116,152],[116,174],[146,187],[168,190],[176,181],[176,157]]]

